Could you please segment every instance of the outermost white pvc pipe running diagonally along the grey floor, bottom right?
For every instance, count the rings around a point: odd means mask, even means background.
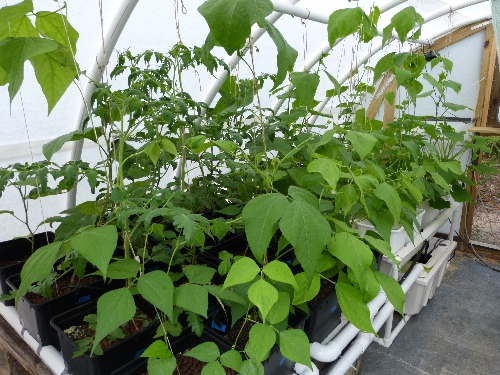
[[[408,275],[408,278],[401,284],[401,289],[408,292],[410,287],[415,283],[420,273],[424,270],[422,264],[417,264]],[[376,331],[382,328],[382,325],[387,321],[387,318],[394,312],[394,306],[387,301],[387,303],[380,309],[378,314],[373,319],[373,328]],[[349,349],[337,361],[335,366],[327,373],[327,375],[344,375],[349,370],[352,364],[359,358],[361,354],[368,348],[373,341],[373,333],[361,332],[356,340],[351,344]]]

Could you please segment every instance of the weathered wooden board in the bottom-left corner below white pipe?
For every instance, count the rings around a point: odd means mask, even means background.
[[[0,348],[6,350],[29,374],[54,375],[14,328],[1,316]]]

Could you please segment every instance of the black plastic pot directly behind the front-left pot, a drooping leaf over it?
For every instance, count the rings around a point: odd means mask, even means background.
[[[20,274],[10,276],[7,283],[14,290],[21,284]],[[31,303],[26,296],[22,296],[17,304],[17,312],[21,325],[42,346],[53,345],[60,350],[57,332],[50,325],[50,320],[56,315],[71,310],[74,307],[89,301],[97,300],[110,289],[103,281],[98,281],[86,287],[75,287],[62,296],[53,298],[43,303]]]

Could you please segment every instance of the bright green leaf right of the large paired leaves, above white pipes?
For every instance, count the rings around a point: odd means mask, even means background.
[[[364,273],[373,261],[373,253],[367,244],[351,233],[341,232],[330,239],[328,250],[354,272],[360,285],[365,285]]]

